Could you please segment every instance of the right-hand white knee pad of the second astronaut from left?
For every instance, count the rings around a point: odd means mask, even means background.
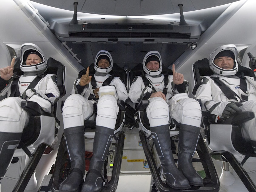
[[[97,116],[115,119],[117,117],[118,110],[119,107],[115,96],[103,95],[99,98],[97,104]]]

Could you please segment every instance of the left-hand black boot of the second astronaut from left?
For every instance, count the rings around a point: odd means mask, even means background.
[[[60,184],[60,192],[74,192],[80,190],[85,175],[85,133],[84,127],[70,127],[64,129],[71,170],[68,177]]]

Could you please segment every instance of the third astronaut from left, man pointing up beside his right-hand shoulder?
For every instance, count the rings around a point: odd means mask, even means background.
[[[162,60],[158,51],[148,52],[142,64],[146,75],[135,77],[128,96],[133,103],[149,100],[146,113],[163,176],[167,184],[176,189],[203,186],[202,178],[191,163],[200,133],[201,107],[198,101],[188,98],[188,81],[183,74],[175,72],[174,65],[173,75],[161,74]],[[145,80],[148,83],[144,83]],[[180,123],[178,169],[171,151],[169,117]]]

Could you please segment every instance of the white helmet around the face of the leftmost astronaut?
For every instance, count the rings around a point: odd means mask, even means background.
[[[26,59],[28,57],[28,53],[36,52],[37,54],[41,55],[42,62],[35,64],[35,65],[26,65]],[[22,44],[20,48],[20,57],[21,57],[21,64],[20,69],[23,72],[36,72],[36,71],[45,71],[47,69],[47,58],[44,56],[45,54],[43,51],[33,43],[25,43]]]

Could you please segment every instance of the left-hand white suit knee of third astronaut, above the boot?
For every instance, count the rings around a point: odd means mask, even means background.
[[[150,127],[156,127],[169,123],[168,104],[160,97],[150,99],[146,112]]]

